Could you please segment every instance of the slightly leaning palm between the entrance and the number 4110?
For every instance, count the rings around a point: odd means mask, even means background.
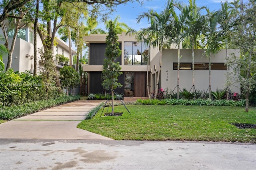
[[[158,75],[156,80],[156,89],[155,89],[155,97],[158,92],[158,84],[160,77],[160,66],[162,61],[162,49],[168,43],[168,39],[172,38],[170,36],[170,32],[168,30],[168,26],[171,25],[171,14],[173,11],[173,0],[168,0],[165,8],[160,14],[158,14],[154,10],[150,10],[148,12],[143,12],[137,18],[137,23],[140,23],[140,20],[143,18],[147,18],[150,22],[150,26],[148,28],[142,28],[137,34],[136,37],[138,40],[143,40],[150,47],[159,47],[160,55],[159,55],[159,67],[158,67]]]

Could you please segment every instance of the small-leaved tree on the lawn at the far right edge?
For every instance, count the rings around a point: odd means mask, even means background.
[[[231,32],[231,43],[240,49],[240,57],[233,56],[231,66],[235,81],[241,84],[245,95],[245,111],[249,111],[249,93],[256,87],[256,1],[249,0],[236,17],[236,26]]]

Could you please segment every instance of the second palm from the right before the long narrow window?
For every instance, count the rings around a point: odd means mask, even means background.
[[[209,58],[209,99],[211,99],[211,55],[215,55],[223,48],[224,38],[217,29],[218,15],[217,12],[210,12],[207,9],[208,28],[205,35],[205,54]]]

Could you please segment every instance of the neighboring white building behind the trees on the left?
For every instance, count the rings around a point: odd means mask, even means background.
[[[31,26],[32,27],[32,26]],[[12,65],[11,68],[13,68],[14,71],[24,72],[26,70],[33,72],[34,69],[34,42],[33,42],[33,30],[31,27],[25,27],[19,30],[18,37],[16,38],[15,46],[14,46],[14,52],[12,54]],[[0,34],[3,35],[2,29],[0,29]],[[10,35],[11,36],[11,35]],[[10,37],[9,36],[9,37]],[[62,41],[60,38],[56,38],[56,42],[58,43],[57,46],[54,46],[54,55],[56,54],[62,54],[65,57],[69,58],[69,46],[64,41]],[[0,43],[4,44],[5,41],[0,41]],[[8,38],[9,43],[9,49],[12,45],[12,38]],[[37,48],[41,49],[42,41],[37,35]],[[76,51],[72,49],[72,55],[75,55]],[[37,54],[38,59],[38,71],[40,71],[40,68],[42,68],[42,65],[40,65],[40,54]],[[7,65],[8,58],[3,58],[5,63],[5,68]],[[57,67],[62,67],[60,65],[57,65]]]

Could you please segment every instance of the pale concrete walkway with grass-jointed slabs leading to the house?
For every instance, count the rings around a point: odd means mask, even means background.
[[[88,112],[103,101],[74,101],[0,124],[0,138],[87,139],[110,138],[76,128]]]

